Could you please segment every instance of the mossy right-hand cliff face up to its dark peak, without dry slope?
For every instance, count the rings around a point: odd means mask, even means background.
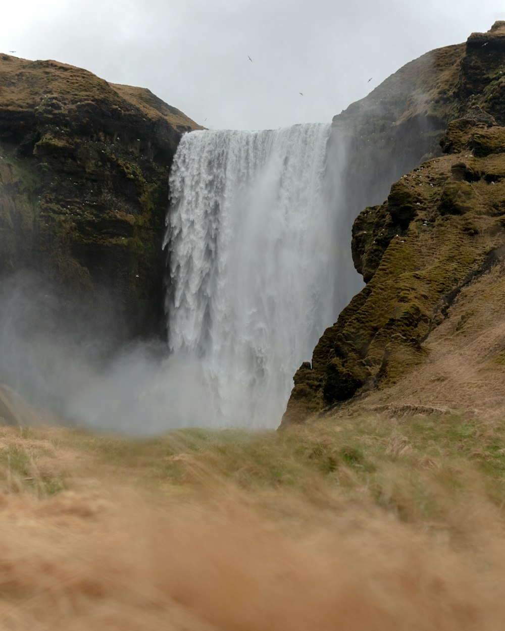
[[[429,361],[427,341],[458,295],[502,261],[505,23],[451,58],[448,155],[430,156],[355,220],[353,259],[367,284],[295,375],[284,425],[386,391]]]

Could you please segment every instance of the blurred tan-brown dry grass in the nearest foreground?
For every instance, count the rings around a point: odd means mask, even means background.
[[[8,496],[0,628],[497,629],[505,539],[496,515],[473,510],[461,529],[480,528],[478,541],[455,550],[359,512],[287,527],[231,491],[198,502]]]

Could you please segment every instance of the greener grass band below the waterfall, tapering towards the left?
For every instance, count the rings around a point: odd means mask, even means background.
[[[323,420],[283,431],[177,430],[133,440],[74,432],[73,447],[99,469],[141,487],[216,483],[262,493],[297,493],[310,505],[332,497],[379,505],[405,521],[440,517],[465,497],[505,500],[505,429],[452,415]],[[317,490],[315,492],[314,490]]]

